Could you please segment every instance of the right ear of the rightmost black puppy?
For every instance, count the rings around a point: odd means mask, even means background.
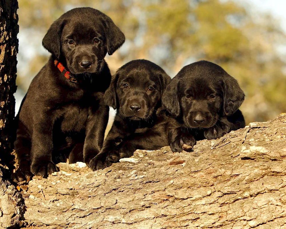
[[[233,115],[244,100],[244,92],[241,90],[237,80],[225,74],[223,78],[223,110],[225,115]]]

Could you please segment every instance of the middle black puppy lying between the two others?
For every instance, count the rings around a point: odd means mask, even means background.
[[[133,60],[112,76],[104,101],[117,109],[100,153],[90,161],[93,170],[103,169],[136,149],[155,150],[168,145],[167,117],[162,94],[171,78],[148,60]]]

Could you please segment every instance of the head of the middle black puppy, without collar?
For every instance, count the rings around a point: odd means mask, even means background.
[[[108,106],[132,120],[148,119],[158,106],[171,78],[148,60],[133,60],[117,70],[104,94]]]

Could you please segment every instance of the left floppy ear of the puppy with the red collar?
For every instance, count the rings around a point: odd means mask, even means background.
[[[42,41],[44,48],[58,59],[61,54],[61,32],[64,24],[65,21],[61,18],[54,21]]]

